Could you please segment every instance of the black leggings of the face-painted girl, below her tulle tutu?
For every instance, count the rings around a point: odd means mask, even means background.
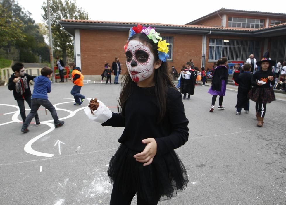
[[[123,194],[116,186],[113,186],[110,205],[130,205],[136,192]],[[158,200],[154,203],[149,204],[147,201],[141,198],[141,194],[137,193],[137,205],[156,205],[160,199],[161,195],[158,196]]]

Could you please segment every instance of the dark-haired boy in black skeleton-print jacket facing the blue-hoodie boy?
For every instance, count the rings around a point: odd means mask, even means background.
[[[20,109],[20,115],[23,122],[26,120],[25,100],[31,108],[31,90],[29,86],[30,80],[36,76],[30,76],[25,73],[25,68],[22,63],[15,63],[12,66],[13,74],[9,78],[8,89],[13,90],[13,95]],[[36,126],[40,125],[38,113],[35,113]]]

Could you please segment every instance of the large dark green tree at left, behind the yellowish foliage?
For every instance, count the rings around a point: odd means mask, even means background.
[[[11,35],[20,37],[14,40],[8,39],[2,46],[7,48],[14,46],[19,50],[19,59],[15,60],[37,62],[37,56],[42,56],[42,61],[49,61],[49,47],[44,41],[39,26],[30,17],[31,13],[23,11],[18,3],[15,3],[15,0],[0,0],[0,3],[10,13],[11,18],[20,24],[16,29],[11,24],[8,25],[12,30]]]

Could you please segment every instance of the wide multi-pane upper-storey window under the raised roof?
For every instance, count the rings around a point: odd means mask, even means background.
[[[263,28],[264,19],[228,17],[228,27]]]

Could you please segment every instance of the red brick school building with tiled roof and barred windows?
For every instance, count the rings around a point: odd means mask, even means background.
[[[190,59],[211,68],[220,57],[244,62],[250,54],[260,60],[269,50],[276,62],[286,60],[286,14],[221,8],[185,25],[95,20],[61,20],[74,39],[74,59],[87,79],[95,79],[115,57],[126,71],[125,45],[129,29],[141,24],[156,28],[170,43],[169,65],[180,71]]]

